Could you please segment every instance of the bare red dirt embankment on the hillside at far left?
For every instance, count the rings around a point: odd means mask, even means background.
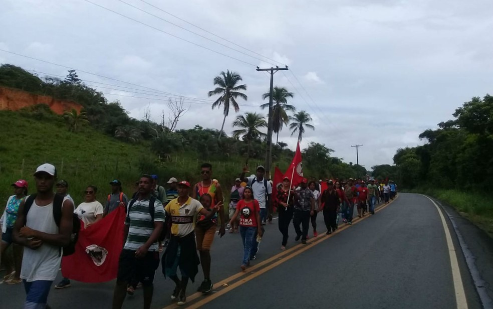
[[[19,110],[21,108],[36,104],[46,104],[50,106],[51,110],[60,115],[65,111],[72,110],[72,108],[75,108],[77,112],[80,112],[82,109],[82,105],[72,101],[62,101],[54,99],[50,96],[32,94],[13,88],[0,87],[0,110]]]

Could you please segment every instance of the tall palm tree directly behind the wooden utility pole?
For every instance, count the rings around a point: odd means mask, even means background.
[[[289,92],[285,87],[274,87],[272,92],[272,130],[277,133],[276,143],[279,141],[279,132],[283,129],[283,126],[289,123],[289,116],[287,111],[296,111],[296,107],[288,104],[288,98],[292,98],[293,92]],[[262,98],[265,100],[269,98],[271,94],[269,92],[264,93]],[[269,103],[262,104],[262,109],[269,108]]]

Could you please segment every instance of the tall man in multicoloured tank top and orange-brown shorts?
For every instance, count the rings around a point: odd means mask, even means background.
[[[212,208],[218,203],[223,203],[222,188],[216,180],[212,180],[212,165],[204,163],[200,167],[200,175],[202,181],[196,183],[193,187],[192,198],[200,199],[203,195],[208,194],[211,197],[211,203],[209,207],[206,207],[208,212],[212,212]],[[197,250],[200,254],[200,264],[204,273],[204,280],[200,284],[198,291],[202,293],[208,293],[212,290],[212,281],[210,280],[210,248],[214,235],[218,225],[218,216],[221,221],[219,227],[219,236],[224,236],[226,233],[226,216],[224,214],[224,208],[221,207],[218,211],[215,211],[211,217],[207,217],[203,214],[197,215],[195,224],[195,236],[197,241]]]

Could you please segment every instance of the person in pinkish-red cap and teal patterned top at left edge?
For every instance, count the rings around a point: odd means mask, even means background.
[[[10,196],[7,200],[4,214],[2,215],[2,218],[0,218],[0,222],[2,222],[2,254],[0,254],[0,256],[4,257],[5,265],[7,267],[7,275],[4,276],[4,282],[7,284],[17,284],[22,282],[20,276],[23,247],[13,243],[12,234],[19,213],[19,206],[28,194],[28,182],[24,179],[20,179],[13,183],[12,187],[14,187],[14,195]],[[8,263],[5,258],[5,253],[10,245],[12,245],[13,249],[12,263]]]

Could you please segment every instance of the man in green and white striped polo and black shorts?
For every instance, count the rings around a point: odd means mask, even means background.
[[[138,194],[128,204],[125,218],[125,245],[118,262],[113,309],[120,309],[132,279],[142,282],[144,309],[151,307],[154,273],[159,266],[157,240],[164,225],[164,207],[152,196],[154,180],[143,175]]]

